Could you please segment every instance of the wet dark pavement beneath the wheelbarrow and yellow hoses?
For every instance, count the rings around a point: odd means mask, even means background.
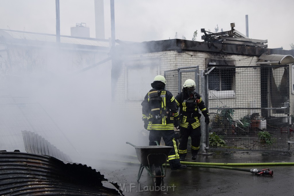
[[[198,155],[201,163],[281,163],[294,162],[293,153],[261,153],[216,151],[213,155]],[[189,158],[189,154],[187,158]],[[109,158],[109,157],[108,157]],[[186,161],[192,162],[191,159]],[[111,158],[110,158],[111,159]],[[139,162],[133,156],[121,156],[116,161],[103,161],[94,166],[105,178],[121,183],[124,195],[294,195],[294,165],[231,166],[258,170],[269,168],[273,176],[218,168],[167,167],[161,187],[153,187],[151,176],[144,169],[136,181]],[[126,162],[124,162],[126,161]],[[131,162],[131,163],[129,163]],[[108,187],[109,183],[103,183]],[[111,187],[111,185],[109,186]],[[111,187],[113,188],[113,187]],[[156,191],[157,190],[157,191]]]

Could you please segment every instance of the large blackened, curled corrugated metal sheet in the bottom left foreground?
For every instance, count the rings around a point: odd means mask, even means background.
[[[0,195],[120,195],[100,172],[51,156],[0,152]],[[114,186],[118,188],[117,183]],[[122,193],[121,193],[122,195]]]

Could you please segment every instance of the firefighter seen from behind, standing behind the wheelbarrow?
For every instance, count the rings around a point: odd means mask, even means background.
[[[160,143],[161,137],[166,146],[173,147],[168,155],[171,170],[184,169],[178,154],[173,118],[178,117],[177,104],[170,91],[164,90],[166,79],[158,75],[151,83],[152,89],[144,97],[142,105],[144,128],[149,130],[149,145]]]

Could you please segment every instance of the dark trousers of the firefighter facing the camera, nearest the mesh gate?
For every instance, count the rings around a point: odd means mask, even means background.
[[[201,128],[200,126],[193,129],[191,126],[188,128],[181,127],[180,129],[180,139],[179,139],[179,155],[180,158],[185,158],[187,155],[187,144],[188,138],[191,137],[191,154],[197,155],[200,148],[200,140],[201,140]]]

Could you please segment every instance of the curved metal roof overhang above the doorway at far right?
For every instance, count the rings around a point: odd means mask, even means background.
[[[270,55],[261,55],[260,60],[256,62],[256,65],[287,65],[294,63],[294,57],[292,55],[282,55],[282,54],[270,54]]]

